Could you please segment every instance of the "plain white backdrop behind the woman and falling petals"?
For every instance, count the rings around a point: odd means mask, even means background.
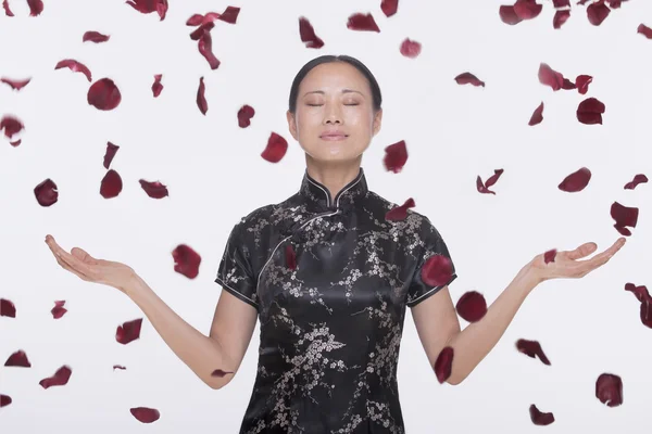
[[[530,421],[530,404],[554,413],[549,433],[649,432],[652,330],[624,286],[652,285],[652,194],[648,183],[624,186],[637,174],[652,175],[652,40],[636,31],[641,23],[652,26],[652,3],[624,2],[600,26],[588,22],[586,7],[573,4],[561,29],[552,27],[549,1],[538,17],[515,26],[500,21],[497,0],[401,0],[391,17],[380,0],[170,0],[164,21],[121,0],[47,1],[36,17],[25,2],[9,3],[15,16],[0,11],[0,76],[33,79],[21,91],[0,86],[0,116],[25,124],[21,145],[4,137],[0,143],[0,297],[17,309],[16,318],[0,317],[0,361],[23,349],[33,366],[0,366],[0,394],[13,399],[0,409],[3,434],[238,431],[255,376],[259,326],[239,373],[213,391],[147,319],[138,341],[116,343],[116,327],[142,312],[117,290],[61,269],[43,239],[51,233],[68,251],[80,246],[128,264],[208,333],[221,291],[213,280],[233,225],[299,188],[304,155],[287,129],[287,99],[301,65],[325,53],[356,56],[377,76],[385,115],[363,159],[369,189],[399,204],[412,196],[415,210],[430,217],[459,271],[453,302],[472,290],[493,302],[523,265],[549,248],[594,241],[602,251],[619,237],[612,203],[640,208],[632,235],[607,265],[580,280],[538,286],[457,386],[437,382],[408,315],[399,362],[406,432],[535,433],[541,427]],[[227,5],[241,11],[235,25],[215,22],[222,64],[211,71],[185,22]],[[380,33],[348,29],[356,12],[372,13]],[[322,49],[301,42],[300,16],[325,41]],[[87,30],[111,39],[83,43]],[[418,58],[401,55],[406,37],[423,44]],[[85,63],[93,81],[113,79],[122,92],[117,108],[88,105],[84,75],[54,69],[63,59]],[[593,76],[588,93],[541,85],[541,62],[570,80]],[[453,78],[463,72],[486,87],[457,85]],[[159,98],[151,91],[155,74],[163,74]],[[200,77],[205,116],[196,104]],[[576,119],[588,97],[605,103],[603,125]],[[542,101],[543,122],[528,126]],[[255,108],[244,129],[236,118],[242,104]],[[260,156],[272,131],[290,143],[278,164]],[[385,146],[399,140],[410,157],[397,175],[381,159]],[[108,141],[121,146],[111,168],[124,181],[110,200],[99,194]],[[592,173],[584,191],[557,189],[582,166]],[[486,180],[498,168],[504,173],[492,188],[497,194],[478,193],[476,177]],[[58,184],[59,202],[41,207],[34,188],[47,178]],[[148,197],[139,179],[160,180],[170,196]],[[180,243],[202,257],[193,280],[173,270],[171,252]],[[59,299],[68,311],[53,319]],[[538,340],[552,365],[519,354],[514,343],[522,337]],[[68,384],[43,390],[39,381],[63,365],[73,369]],[[622,376],[622,406],[595,398],[603,372]],[[138,406],[159,409],[161,419],[138,422],[128,410]]]

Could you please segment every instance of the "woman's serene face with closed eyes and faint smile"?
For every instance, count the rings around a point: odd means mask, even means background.
[[[323,63],[301,81],[290,133],[313,159],[355,161],[380,130],[367,79],[346,62]]]

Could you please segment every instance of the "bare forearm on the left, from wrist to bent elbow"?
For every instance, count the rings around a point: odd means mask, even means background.
[[[140,307],[167,346],[197,376],[212,388],[220,388],[228,383],[233,375],[211,375],[215,369],[233,371],[217,340],[204,335],[186,322],[140,277],[134,278],[125,293]]]

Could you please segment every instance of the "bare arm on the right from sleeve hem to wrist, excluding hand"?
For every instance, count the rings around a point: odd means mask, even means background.
[[[477,322],[460,330],[460,321],[448,286],[412,308],[412,317],[421,342],[435,366],[437,356],[446,347],[453,348],[453,365],[449,384],[460,384],[489,354],[501,339],[516,311],[536,288],[534,276],[524,267],[489,306]]]

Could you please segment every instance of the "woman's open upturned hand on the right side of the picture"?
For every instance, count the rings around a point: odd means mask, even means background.
[[[537,283],[557,278],[581,278],[603,266],[625,245],[625,238],[620,237],[604,252],[599,253],[590,259],[577,260],[595,252],[595,243],[585,243],[574,251],[557,252],[554,260],[546,263],[544,254],[535,256],[528,264]]]

